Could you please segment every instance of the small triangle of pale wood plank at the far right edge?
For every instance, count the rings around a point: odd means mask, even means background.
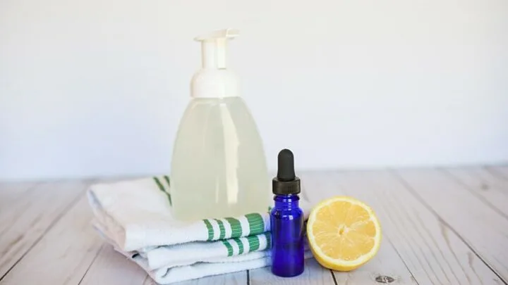
[[[508,180],[484,167],[451,168],[444,172],[508,219]]]

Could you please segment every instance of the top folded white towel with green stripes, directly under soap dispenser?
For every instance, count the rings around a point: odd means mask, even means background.
[[[87,189],[87,197],[97,224],[123,252],[237,239],[270,231],[268,208],[265,213],[240,217],[178,221],[171,215],[169,186],[167,176],[99,183]],[[307,217],[310,203],[301,198],[300,206]]]

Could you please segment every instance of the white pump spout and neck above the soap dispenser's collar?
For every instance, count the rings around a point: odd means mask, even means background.
[[[225,69],[227,41],[238,34],[238,30],[224,29],[195,37],[196,41],[201,42],[202,67]]]

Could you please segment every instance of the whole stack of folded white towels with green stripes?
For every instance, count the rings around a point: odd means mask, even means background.
[[[270,214],[180,222],[169,177],[95,184],[87,196],[97,232],[159,284],[270,265]],[[310,204],[301,199],[306,217]],[[306,251],[309,258],[310,252]]]

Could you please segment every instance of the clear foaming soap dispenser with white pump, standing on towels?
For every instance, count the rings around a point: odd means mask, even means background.
[[[171,160],[171,200],[178,220],[267,212],[270,177],[253,116],[240,97],[226,47],[237,30],[211,32],[201,43],[202,68],[191,82]]]

